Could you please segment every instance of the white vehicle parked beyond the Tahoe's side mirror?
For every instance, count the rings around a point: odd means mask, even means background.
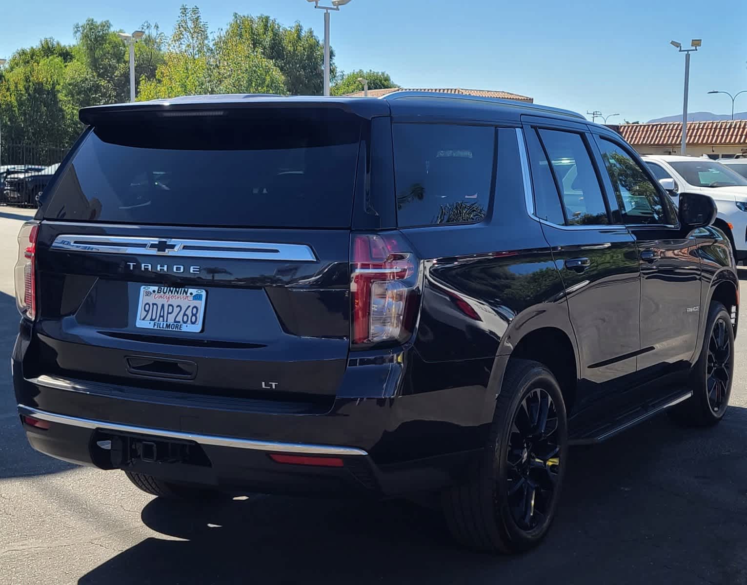
[[[716,201],[719,214],[713,222],[731,241],[737,262],[747,260],[747,178],[710,158],[645,154],[642,157],[651,174],[666,187],[675,181],[669,195],[703,193]]]

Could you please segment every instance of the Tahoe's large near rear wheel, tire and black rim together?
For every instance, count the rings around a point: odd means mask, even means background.
[[[441,498],[453,536],[468,548],[503,554],[537,545],[555,516],[567,454],[554,375],[542,363],[510,360],[483,460]]]

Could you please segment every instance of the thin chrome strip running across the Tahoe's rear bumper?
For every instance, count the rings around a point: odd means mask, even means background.
[[[233,447],[240,449],[250,449],[253,451],[273,451],[275,453],[301,453],[311,455],[368,455],[363,449],[356,447],[338,447],[335,445],[309,445],[300,442],[278,442],[278,441],[259,441],[255,439],[239,439],[237,437],[219,437],[217,435],[203,435],[196,433],[185,433],[183,431],[167,431],[161,428],[145,428],[132,425],[120,425],[117,422],[96,421],[91,419],[81,419],[77,416],[67,416],[63,414],[48,413],[45,410],[38,410],[18,405],[18,413],[22,416],[31,416],[47,422],[55,422],[60,425],[72,425],[80,428],[100,429],[102,431],[112,431],[120,433],[134,433],[147,435],[150,437],[164,437],[165,439],[180,439],[194,441],[199,445],[215,445],[217,447]]]

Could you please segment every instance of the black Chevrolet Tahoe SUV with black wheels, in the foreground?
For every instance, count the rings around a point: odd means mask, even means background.
[[[548,530],[568,445],[725,413],[716,207],[675,209],[578,114],[403,91],[80,117],[19,235],[39,451],[187,500],[439,493],[461,542],[510,552]]]

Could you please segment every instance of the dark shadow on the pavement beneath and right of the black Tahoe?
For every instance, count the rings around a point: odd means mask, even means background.
[[[554,527],[517,557],[460,549],[437,510],[403,501],[155,499],[141,516],[167,537],[139,542],[79,584],[742,583],[746,438],[747,409],[732,407],[716,428],[660,416],[572,448]]]

